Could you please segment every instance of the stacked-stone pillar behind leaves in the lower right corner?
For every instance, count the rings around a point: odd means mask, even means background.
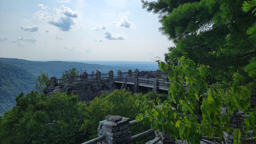
[[[220,108],[220,113],[221,115],[224,115],[226,112],[227,108]],[[226,112],[226,114],[228,114],[228,112]],[[234,112],[234,114],[231,116],[229,115],[229,129],[230,131],[227,133],[225,131],[223,131],[224,133],[224,140],[226,144],[233,144],[234,143],[234,136],[233,136],[233,129],[239,128],[241,131],[241,143],[243,144],[245,142],[245,133],[243,131],[243,126],[242,123],[244,121],[244,119],[246,118],[246,116],[244,115],[244,112],[237,110]],[[224,130],[224,128],[223,128]]]

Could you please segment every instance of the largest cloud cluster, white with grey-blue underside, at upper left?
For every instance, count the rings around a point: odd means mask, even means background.
[[[70,31],[72,26],[75,25],[73,18],[78,17],[76,11],[72,11],[70,8],[62,5],[60,8],[55,7],[54,11],[56,15],[49,14],[47,11],[37,11],[34,14],[34,18],[38,20],[45,20],[48,24],[58,27],[62,31]]]

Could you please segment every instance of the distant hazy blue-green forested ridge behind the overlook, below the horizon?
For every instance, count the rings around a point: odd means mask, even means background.
[[[116,67],[116,66],[105,66],[105,65],[98,65],[98,64],[87,64],[87,63],[81,63],[81,62],[64,62],[64,61],[48,61],[48,62],[36,62],[36,61],[28,61],[23,59],[15,59],[15,58],[0,58],[1,62],[13,64],[16,66],[23,67],[32,73],[34,75],[39,75],[40,71],[46,72],[49,74],[49,77],[56,76],[57,78],[60,78],[62,73],[65,72],[65,70],[72,69],[76,67],[78,70],[87,70],[87,72],[91,72],[92,69],[99,70],[101,73],[108,73],[109,70],[113,70],[114,74],[118,70],[121,71],[128,71],[129,69],[132,69],[134,71],[134,68],[129,67]]]

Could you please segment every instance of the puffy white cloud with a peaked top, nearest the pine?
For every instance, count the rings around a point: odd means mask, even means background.
[[[114,21],[110,24],[114,25],[114,26],[119,26],[119,27],[125,27],[125,28],[136,28],[134,23],[128,20],[127,15],[130,14],[129,11],[127,11],[126,13],[119,13],[120,16],[120,21]]]

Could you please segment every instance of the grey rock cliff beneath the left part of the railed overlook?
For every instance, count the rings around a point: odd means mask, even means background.
[[[103,93],[113,91],[113,82],[105,82],[103,80],[96,81],[81,81],[72,84],[65,84],[62,86],[48,87],[44,91],[46,95],[51,95],[54,92],[67,92],[68,94],[74,93],[78,95],[79,101],[86,101],[89,103],[96,96],[100,96]]]

